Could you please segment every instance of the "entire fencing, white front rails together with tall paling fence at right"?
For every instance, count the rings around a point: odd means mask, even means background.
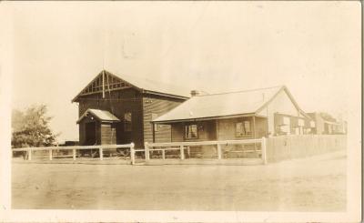
[[[72,157],[76,160],[77,150],[91,150],[90,156],[99,153],[99,159],[104,159],[104,154],[113,155],[109,153],[108,149],[116,148],[116,156],[122,155],[125,158],[130,158],[131,164],[136,164],[136,160],[150,161],[150,159],[162,160],[168,157],[187,159],[193,156],[191,151],[196,147],[204,147],[207,151],[212,151],[214,159],[221,160],[230,157],[257,157],[261,159],[262,163],[277,162],[284,159],[309,157],[318,155],[325,152],[335,151],[346,148],[346,136],[324,136],[324,135],[305,135],[305,136],[283,136],[283,137],[269,137],[269,138],[256,138],[256,139],[243,139],[243,140],[221,140],[221,141],[199,141],[199,142],[169,142],[169,143],[145,143],[145,148],[135,148],[134,143],[123,145],[103,145],[103,146],[76,146],[76,147],[22,147],[13,148],[13,152],[25,151],[27,159],[32,160],[32,152],[34,151],[47,151],[45,158],[53,160],[58,157]],[[249,145],[244,146],[244,145]],[[243,145],[241,147],[233,145]],[[253,145],[253,146],[251,146]],[[257,145],[259,147],[257,147]],[[212,147],[211,147],[212,146]],[[231,147],[238,149],[230,149]],[[248,147],[248,149],[247,149]],[[118,151],[118,148],[126,148],[127,152]],[[93,150],[96,149],[96,153]],[[59,156],[62,150],[72,150],[71,154]],[[130,153],[129,153],[130,151]],[[191,152],[191,153],[190,153]],[[144,156],[136,156],[142,154]],[[196,154],[196,153],[195,153]],[[78,153],[79,156],[85,155]],[[152,155],[152,156],[151,156]],[[197,155],[198,152],[197,152]],[[252,155],[252,156],[250,156]],[[259,161],[260,162],[260,161]]]

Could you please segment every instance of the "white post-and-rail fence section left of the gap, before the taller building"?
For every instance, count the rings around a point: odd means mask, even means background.
[[[103,145],[103,146],[75,146],[75,147],[21,147],[21,148],[13,148],[13,152],[18,151],[25,151],[27,152],[27,159],[32,160],[32,152],[33,151],[48,151],[49,153],[49,160],[53,159],[53,151],[55,150],[72,150],[72,157],[73,160],[76,160],[76,150],[91,150],[91,149],[98,149],[99,151],[99,158],[100,160],[104,159],[104,150],[112,149],[112,148],[129,148],[131,153],[133,154],[134,150],[134,143],[130,144],[123,144],[123,145]],[[134,155],[134,154],[133,154]]]

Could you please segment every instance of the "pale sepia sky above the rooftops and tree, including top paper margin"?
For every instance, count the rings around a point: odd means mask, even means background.
[[[16,2],[12,107],[45,104],[78,138],[71,100],[103,68],[209,93],[288,86],[306,112],[348,115],[359,2]]]

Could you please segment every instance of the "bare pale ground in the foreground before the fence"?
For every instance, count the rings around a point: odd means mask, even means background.
[[[345,211],[339,151],[266,166],[14,162],[13,208]]]

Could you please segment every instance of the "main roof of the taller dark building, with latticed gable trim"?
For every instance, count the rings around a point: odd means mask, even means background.
[[[101,86],[104,75],[110,76],[110,79],[112,79],[113,83],[110,84],[111,86],[116,84],[118,85],[120,83],[122,84],[122,87],[110,88],[111,91],[131,86],[143,93],[148,93],[153,95],[176,97],[180,99],[187,99],[190,96],[189,90],[181,86],[175,86],[172,84],[164,83],[162,81],[156,81],[139,76],[126,76],[120,74],[116,75],[106,70],[102,70],[77,96],[75,96],[72,102],[75,102],[77,98],[79,96],[82,96],[83,94],[85,95],[90,94],[88,93],[87,89],[90,88],[93,85],[93,83],[97,82],[97,87],[100,88],[100,89],[97,88],[98,91],[96,93],[102,92]],[[106,77],[105,77],[105,82],[106,82]],[[108,89],[106,89],[106,91],[108,91]]]

